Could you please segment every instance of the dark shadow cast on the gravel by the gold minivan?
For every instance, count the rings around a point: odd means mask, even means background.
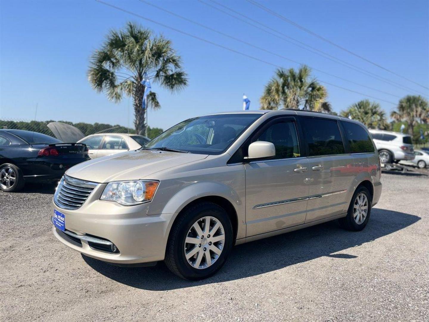
[[[221,271],[197,282],[178,278],[163,263],[155,267],[126,268],[112,266],[85,255],[82,257],[94,270],[119,283],[138,289],[164,291],[259,275],[321,256],[353,261],[357,256],[338,252],[370,243],[419,220],[420,217],[407,213],[374,208],[363,231],[345,231],[337,221],[332,221],[242,244],[233,247]]]

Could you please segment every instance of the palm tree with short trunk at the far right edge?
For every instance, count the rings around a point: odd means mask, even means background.
[[[408,134],[414,134],[414,125],[419,121],[426,123],[428,119],[428,101],[423,97],[416,95],[407,95],[401,100],[397,107],[397,111],[393,111],[390,117],[396,121],[405,121],[408,124]]]

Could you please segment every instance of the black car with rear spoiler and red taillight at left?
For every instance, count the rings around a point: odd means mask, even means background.
[[[25,182],[53,182],[89,160],[83,143],[62,143],[45,134],[0,130],[0,189],[18,191]]]

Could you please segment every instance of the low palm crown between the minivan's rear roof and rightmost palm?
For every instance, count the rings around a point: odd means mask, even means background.
[[[387,129],[386,113],[377,102],[360,100],[349,106],[345,111],[341,111],[341,116],[362,122],[367,128]]]

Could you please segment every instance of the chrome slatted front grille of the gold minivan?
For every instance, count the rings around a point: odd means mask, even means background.
[[[55,204],[63,209],[74,210],[81,207],[98,183],[64,175],[54,194]]]

